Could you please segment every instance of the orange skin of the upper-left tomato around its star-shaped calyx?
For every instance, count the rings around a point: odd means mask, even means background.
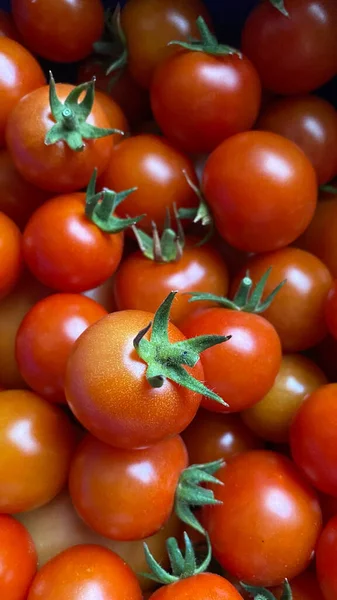
[[[72,85],[56,84],[61,102],[73,89]],[[108,117],[97,100],[87,123],[109,128]],[[71,150],[63,141],[46,146],[45,136],[54,124],[49,86],[43,86],[27,94],[12,110],[6,129],[8,150],[19,173],[37,187],[59,193],[80,190],[89,183],[95,167],[98,175],[106,168],[113,140],[111,136],[84,140],[81,152]]]

